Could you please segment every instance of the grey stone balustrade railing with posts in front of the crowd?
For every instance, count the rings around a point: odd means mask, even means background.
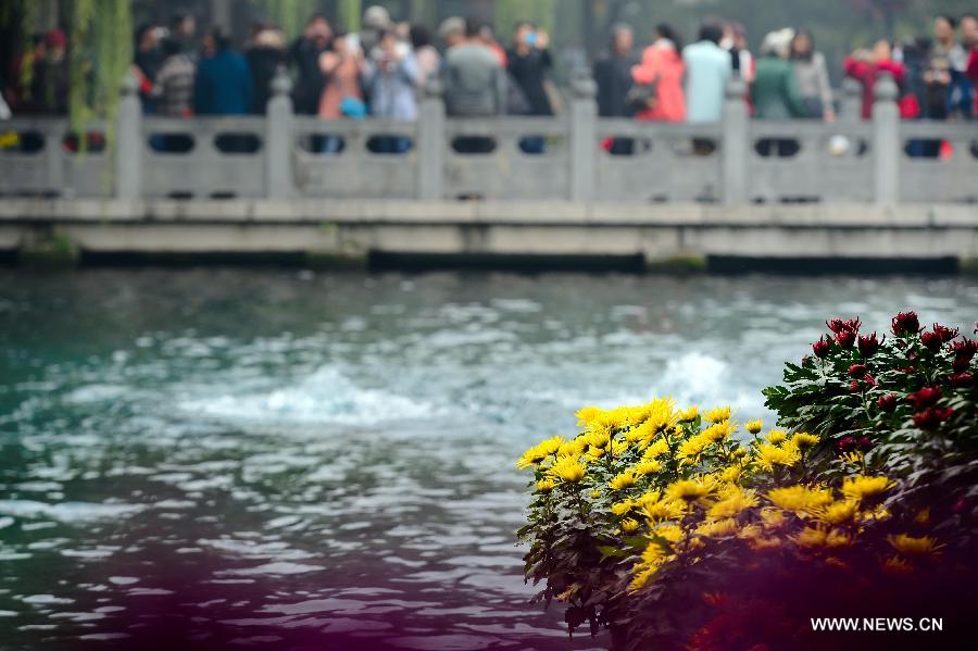
[[[20,136],[20,145],[0,149],[0,195],[978,201],[975,123],[902,122],[896,87],[886,76],[876,88],[872,121],[858,120],[858,87],[847,85],[835,123],[751,120],[740,80],[728,86],[717,124],[598,117],[589,79],[573,86],[567,110],[555,117],[446,117],[432,85],[412,123],[324,122],[293,114],[287,78],[277,78],[273,91],[265,116],[176,120],[143,115],[135,86],[127,85],[114,150],[89,137],[87,151],[78,152],[65,120],[0,123],[0,133]],[[105,126],[93,123],[88,129],[100,135]],[[627,142],[629,154],[619,155],[623,148],[609,148],[610,142]],[[938,148],[944,155],[914,155]]]

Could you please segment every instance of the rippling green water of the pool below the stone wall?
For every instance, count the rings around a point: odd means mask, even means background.
[[[600,644],[526,605],[519,452],[593,402],[769,417],[825,318],[907,308],[978,283],[0,271],[0,647]]]

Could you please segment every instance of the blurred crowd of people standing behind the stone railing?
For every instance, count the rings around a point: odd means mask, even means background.
[[[366,10],[358,33],[336,28],[322,15],[309,20],[293,42],[274,25],[258,23],[243,52],[220,29],[198,39],[191,15],[168,26],[145,25],[136,34],[133,72],[147,114],[262,114],[272,80],[281,71],[293,79],[297,113],[324,121],[377,116],[413,121],[428,82],[440,78],[449,115],[551,115],[561,93],[552,82],[554,57],[547,32],[517,23],[504,47],[487,24],[444,20],[434,35],[424,25],[396,23],[387,10]],[[440,45],[436,47],[436,40]],[[832,121],[833,96],[826,58],[810,32],[785,28],[767,34],[758,55],[745,29],[734,22],[704,21],[694,42],[684,46],[676,29],[661,24],[651,45],[636,52],[626,24],[614,25],[609,51],[593,66],[602,116],[665,122],[717,122],[727,80],[739,75],[749,87],[756,118]],[[67,110],[67,42],[60,29],[34,39],[7,78],[0,112],[63,114]],[[29,68],[30,74],[25,74]],[[940,15],[932,37],[893,43],[880,39],[856,49],[843,62],[845,75],[862,85],[862,117],[868,118],[874,86],[882,74],[899,88],[904,118],[970,120],[978,116],[978,20]],[[462,139],[462,149],[480,151],[485,139]],[[386,152],[410,147],[403,138],[376,145]],[[543,150],[542,138],[525,138],[527,153]],[[613,140],[613,153],[630,153],[632,142]],[[337,138],[316,148],[334,152]],[[936,155],[919,151],[919,155]]]

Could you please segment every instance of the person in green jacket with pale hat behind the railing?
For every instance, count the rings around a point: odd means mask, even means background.
[[[788,120],[807,115],[794,68],[788,61],[791,47],[791,29],[772,32],[764,37],[761,58],[757,60],[754,83],[751,85],[751,101],[754,117],[762,120]]]

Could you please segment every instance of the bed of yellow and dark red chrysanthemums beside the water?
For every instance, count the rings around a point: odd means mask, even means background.
[[[537,599],[620,649],[824,648],[812,617],[971,615],[976,345],[913,313],[883,338],[827,325],[765,391],[780,428],[659,399],[585,408],[578,436],[527,450]]]

